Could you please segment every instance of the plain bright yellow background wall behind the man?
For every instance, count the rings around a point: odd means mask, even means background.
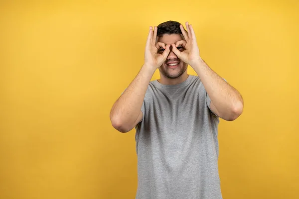
[[[1,0],[0,199],[135,197],[135,130],[109,111],[167,20],[245,100],[219,125],[223,198],[298,199],[298,2]]]

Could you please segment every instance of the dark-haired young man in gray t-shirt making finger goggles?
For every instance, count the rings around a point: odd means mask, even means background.
[[[136,199],[222,199],[219,117],[235,120],[243,99],[201,59],[186,29],[175,21],[149,28],[145,63],[110,113],[120,132],[136,128]],[[150,81],[156,69],[160,79]]]

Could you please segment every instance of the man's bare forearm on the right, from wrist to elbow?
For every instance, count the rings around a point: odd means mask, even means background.
[[[203,60],[193,69],[199,76],[211,101],[224,118],[240,115],[243,99],[240,93],[217,75]]]

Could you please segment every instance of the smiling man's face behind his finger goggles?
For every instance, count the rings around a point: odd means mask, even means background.
[[[164,34],[162,37],[157,37],[157,42],[162,42],[165,45],[167,44],[175,44],[177,41],[184,39],[180,34]],[[177,47],[178,50],[184,51],[185,48],[181,45]],[[160,47],[158,49],[158,53],[162,54],[164,49]],[[174,65],[174,66],[173,66]],[[173,52],[172,46],[170,46],[170,52],[167,56],[166,61],[159,67],[160,73],[164,77],[169,79],[175,79],[180,77],[186,70],[188,64],[181,61]]]

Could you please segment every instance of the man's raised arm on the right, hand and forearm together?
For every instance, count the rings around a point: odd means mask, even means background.
[[[235,120],[243,111],[242,96],[201,59],[194,30],[188,22],[186,28],[188,32],[180,25],[185,40],[172,44],[172,51],[197,73],[211,99],[210,109],[222,119]],[[178,45],[182,45],[185,50],[179,51],[176,48]]]

